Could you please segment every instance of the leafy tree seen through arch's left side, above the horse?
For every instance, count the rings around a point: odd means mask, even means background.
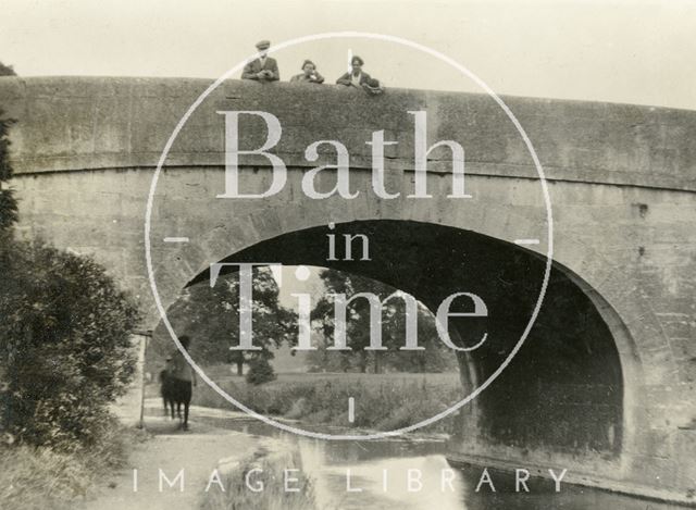
[[[257,358],[268,363],[273,359],[274,347],[297,338],[296,314],[281,306],[271,271],[254,269],[252,278],[253,345],[261,347],[260,351],[229,349],[239,344],[238,273],[221,276],[213,288],[207,283],[192,285],[167,311],[177,335],[186,334],[194,339],[190,352],[197,362],[231,363],[243,375],[244,364]],[[156,337],[161,354],[171,351],[172,343],[163,324],[156,329]]]

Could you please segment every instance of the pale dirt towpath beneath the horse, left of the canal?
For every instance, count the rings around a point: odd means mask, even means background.
[[[157,415],[161,412],[159,406],[154,407],[158,403],[157,400],[149,401],[146,407],[146,428],[153,436],[138,445],[130,456],[128,469],[102,481],[104,488],[96,499],[85,503],[85,510],[196,509],[215,469],[222,473],[254,451],[278,447],[273,439],[217,428],[195,419],[189,421],[189,432],[178,431],[177,421]],[[206,412],[214,412],[217,416],[224,413],[233,420],[239,416],[235,412],[191,409],[192,416]],[[134,469],[137,469],[137,490]],[[176,480],[182,470],[183,490],[181,478]],[[176,480],[173,487],[160,473],[170,482]],[[213,483],[210,490],[219,492],[220,486]]]

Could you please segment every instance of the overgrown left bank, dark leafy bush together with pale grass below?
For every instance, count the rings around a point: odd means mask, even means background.
[[[74,508],[134,441],[109,406],[139,316],[90,258],[15,236],[12,124],[0,111],[0,508]]]

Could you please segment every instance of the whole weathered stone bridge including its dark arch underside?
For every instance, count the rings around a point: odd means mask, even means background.
[[[210,85],[200,79],[0,78],[11,133],[21,235],[92,254],[159,321],[146,270],[144,222],[158,160],[175,125]],[[451,460],[568,468],[567,480],[682,502],[696,496],[696,112],[506,98],[543,164],[554,213],[547,298],[502,375],[464,408]],[[287,184],[263,200],[224,189],[224,117],[266,111],[282,123],[272,149]],[[431,152],[433,199],[413,199],[413,115],[428,144],[465,148],[470,199],[446,198],[451,153]],[[266,136],[244,120],[243,148]],[[385,187],[371,191],[374,130]],[[352,200],[310,200],[301,182],[315,140],[350,153]],[[240,188],[272,181],[264,157],[244,160]],[[328,190],[335,174],[316,186]],[[492,337],[460,356],[462,384],[485,381],[514,347],[540,289],[548,248],[539,177],[519,134],[486,96],[391,89],[381,97],[334,86],[222,84],[190,116],[153,190],[152,265],[163,307],[211,262],[336,268],[381,279],[431,308],[495,282]],[[335,223],[335,231],[327,225]],[[369,235],[370,261],[327,261],[330,233]],[[171,238],[188,241],[172,242]],[[165,241],[165,238],[170,238]],[[521,244],[520,239],[538,239]],[[181,240],[181,239],[179,239]],[[517,242],[515,242],[517,241]],[[473,271],[472,271],[473,269]],[[513,312],[510,312],[510,309]],[[594,318],[594,319],[593,319]],[[585,322],[583,322],[585,321]],[[562,325],[581,334],[566,333]],[[472,327],[457,323],[467,340]],[[546,332],[546,333],[545,333]],[[570,336],[569,336],[570,335]],[[460,338],[460,339],[461,339]]]

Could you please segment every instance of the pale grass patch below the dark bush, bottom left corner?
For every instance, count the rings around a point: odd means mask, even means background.
[[[53,449],[24,445],[0,447],[0,508],[62,510],[76,508],[122,468],[146,434],[114,422],[104,425],[90,448]]]

